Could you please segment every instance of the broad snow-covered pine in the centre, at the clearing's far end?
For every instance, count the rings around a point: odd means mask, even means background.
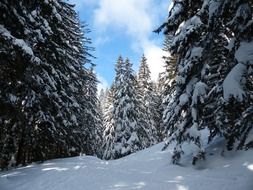
[[[128,59],[119,57],[116,77],[105,112],[104,159],[117,159],[150,146],[150,138],[139,117],[136,77]],[[110,96],[110,94],[112,96]]]

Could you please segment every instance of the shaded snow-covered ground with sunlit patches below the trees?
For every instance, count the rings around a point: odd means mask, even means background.
[[[208,148],[207,160],[192,166],[170,164],[163,144],[114,161],[91,156],[56,159],[0,172],[0,190],[252,190],[253,151]]]

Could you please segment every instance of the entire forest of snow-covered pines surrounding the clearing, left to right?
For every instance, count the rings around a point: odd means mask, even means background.
[[[145,55],[137,72],[119,56],[101,92],[74,5],[1,0],[0,12],[1,169],[80,154],[118,159],[163,141],[174,164],[191,144],[196,164],[207,153],[203,132],[209,143],[224,138],[224,151],[253,148],[252,1],[173,0],[154,31],[165,36],[158,80]]]

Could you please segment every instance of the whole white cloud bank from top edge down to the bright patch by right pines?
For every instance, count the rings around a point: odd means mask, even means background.
[[[96,28],[114,28],[131,37],[132,48],[146,55],[153,80],[163,68],[163,51],[150,39],[165,5],[158,4],[157,0],[100,0],[94,15]]]

